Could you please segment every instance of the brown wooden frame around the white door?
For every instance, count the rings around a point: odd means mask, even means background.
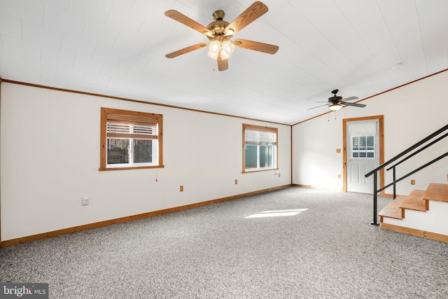
[[[342,144],[344,145],[342,152],[342,190],[347,192],[347,123],[361,121],[361,120],[378,120],[379,125],[379,165],[384,163],[384,116],[365,116],[362,118],[344,118],[342,120]],[[384,168],[379,170],[379,188],[384,186]],[[384,190],[379,195],[384,196]]]

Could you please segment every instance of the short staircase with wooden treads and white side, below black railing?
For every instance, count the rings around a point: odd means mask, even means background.
[[[426,190],[399,195],[379,216],[384,230],[448,242],[448,184],[430,183]]]

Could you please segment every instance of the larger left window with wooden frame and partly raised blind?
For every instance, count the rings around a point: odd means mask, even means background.
[[[162,166],[162,115],[101,109],[99,170]]]

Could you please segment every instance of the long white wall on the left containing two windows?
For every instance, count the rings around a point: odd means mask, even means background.
[[[165,167],[99,172],[101,107],[162,114]],[[243,123],[279,129],[279,170],[241,173]],[[1,240],[288,185],[290,132],[288,125],[3,82]]]

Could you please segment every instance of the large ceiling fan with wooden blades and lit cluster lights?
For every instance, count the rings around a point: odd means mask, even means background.
[[[209,43],[197,43],[196,45],[174,51],[173,53],[165,55],[165,57],[174,58],[193,50],[198,50],[209,46],[209,53],[207,53],[207,55],[218,61],[219,71],[225,71],[229,68],[228,58],[235,50],[235,46],[262,53],[275,54],[277,50],[279,50],[278,46],[260,43],[258,41],[248,41],[246,39],[235,39],[234,41],[230,40],[234,34],[237,34],[237,32],[241,31],[241,29],[260,18],[260,16],[265,13],[267,13],[267,6],[262,4],[260,1],[255,1],[246,9],[246,11],[243,11],[230,23],[223,20],[225,15],[224,11],[215,11],[213,13],[214,22],[211,22],[207,25],[207,27],[204,27],[178,11],[166,11],[165,15],[167,17],[181,22],[183,25],[187,25],[188,27],[195,29],[197,32],[204,34],[210,41]]]

